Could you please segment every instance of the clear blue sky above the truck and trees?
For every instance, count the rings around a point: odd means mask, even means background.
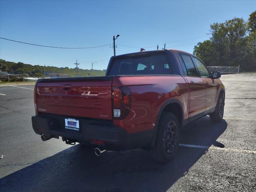
[[[210,37],[210,24],[248,20],[256,1],[1,1],[0,36],[34,44],[88,47],[117,44],[193,52]],[[117,54],[140,48],[118,46]],[[0,58],[33,65],[106,69],[110,46],[82,50],[44,48],[0,40]]]

